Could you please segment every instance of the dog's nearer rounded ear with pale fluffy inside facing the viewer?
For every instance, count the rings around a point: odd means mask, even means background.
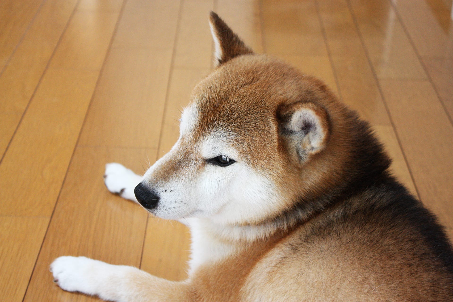
[[[301,161],[324,149],[329,136],[329,120],[322,107],[312,102],[297,102],[280,107],[278,115],[280,132]]]

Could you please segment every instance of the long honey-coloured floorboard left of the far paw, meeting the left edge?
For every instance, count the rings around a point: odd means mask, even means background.
[[[48,70],[0,165],[1,215],[50,217],[97,76]]]

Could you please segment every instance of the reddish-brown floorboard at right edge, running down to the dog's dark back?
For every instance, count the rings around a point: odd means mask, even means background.
[[[420,198],[453,235],[453,126],[429,81],[382,80]]]

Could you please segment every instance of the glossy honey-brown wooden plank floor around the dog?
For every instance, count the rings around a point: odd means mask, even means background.
[[[393,170],[453,237],[449,0],[0,2],[0,301],[94,301],[48,265],[85,255],[185,277],[188,232],[103,184],[178,137],[212,64],[215,10],[256,52],[324,79],[371,121]]]

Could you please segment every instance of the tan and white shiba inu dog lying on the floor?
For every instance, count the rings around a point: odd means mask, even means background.
[[[54,281],[119,302],[453,301],[443,228],[390,175],[369,125],[217,14],[210,24],[217,66],[173,149],[143,177],[118,163],[105,175],[111,192],[187,221],[188,279],[63,256]]]

